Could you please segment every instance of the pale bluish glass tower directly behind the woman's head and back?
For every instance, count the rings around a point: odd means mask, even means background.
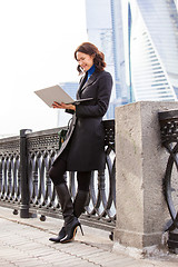
[[[107,62],[106,70],[113,78],[113,90],[111,102],[107,112],[107,118],[113,118],[113,101],[116,101],[116,83],[115,78],[115,53],[112,42],[112,20],[110,0],[86,0],[86,18],[87,33],[90,42],[95,43],[100,51],[105,53]]]

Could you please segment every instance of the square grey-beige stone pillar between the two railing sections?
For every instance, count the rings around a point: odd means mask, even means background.
[[[168,154],[158,112],[171,109],[178,103],[142,101],[116,108],[115,244],[142,249],[161,243],[170,216],[162,194]]]

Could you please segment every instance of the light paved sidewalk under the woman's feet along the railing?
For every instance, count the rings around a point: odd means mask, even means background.
[[[83,226],[75,241],[53,244],[48,239],[57,235],[62,221],[47,217],[21,219],[11,209],[0,207],[0,264],[3,267],[176,267],[178,256],[161,255],[135,259],[112,251],[108,231]]]

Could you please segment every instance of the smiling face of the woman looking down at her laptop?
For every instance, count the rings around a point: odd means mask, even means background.
[[[83,71],[88,71],[93,65],[93,55],[87,55],[82,52],[77,52],[77,61]]]

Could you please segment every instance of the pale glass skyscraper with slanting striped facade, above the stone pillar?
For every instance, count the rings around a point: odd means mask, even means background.
[[[172,19],[174,13],[177,16],[174,1],[121,2],[128,10],[128,19],[122,18],[129,21],[123,40],[129,40],[125,48],[132,100],[177,100],[178,28]]]

